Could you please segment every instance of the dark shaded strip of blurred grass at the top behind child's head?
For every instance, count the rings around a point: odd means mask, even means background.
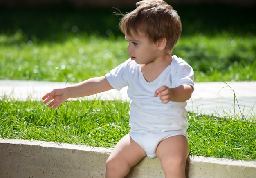
[[[182,36],[196,33],[216,35],[224,31],[234,35],[256,33],[254,7],[176,5],[173,8],[178,11],[182,20]],[[122,7],[120,10],[126,13],[132,9],[133,7]],[[38,42],[62,41],[72,32],[106,36],[111,30],[115,35],[121,34],[118,30],[120,16],[115,16],[112,8],[0,7],[0,17],[0,33],[10,35],[22,30],[24,40],[36,37]]]

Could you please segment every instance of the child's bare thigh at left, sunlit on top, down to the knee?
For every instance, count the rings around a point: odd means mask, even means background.
[[[144,157],[146,157],[145,151],[128,134],[119,140],[107,162],[115,160],[115,162],[123,162],[132,167]]]

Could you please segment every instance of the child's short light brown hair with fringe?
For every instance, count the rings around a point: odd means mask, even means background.
[[[177,11],[163,0],[142,0],[136,6],[121,18],[121,31],[128,36],[142,33],[153,43],[166,38],[165,49],[171,53],[181,35]]]

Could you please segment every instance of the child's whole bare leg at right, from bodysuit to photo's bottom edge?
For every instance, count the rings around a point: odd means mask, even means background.
[[[189,145],[182,135],[166,138],[157,147],[157,157],[166,178],[185,178]]]

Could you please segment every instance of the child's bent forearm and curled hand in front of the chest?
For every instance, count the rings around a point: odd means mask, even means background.
[[[159,96],[160,100],[162,100],[162,103],[168,103],[169,101],[184,102],[191,98],[192,92],[193,87],[188,84],[180,85],[176,88],[168,88],[166,86],[162,86],[157,89],[157,91],[155,91],[154,96]]]

